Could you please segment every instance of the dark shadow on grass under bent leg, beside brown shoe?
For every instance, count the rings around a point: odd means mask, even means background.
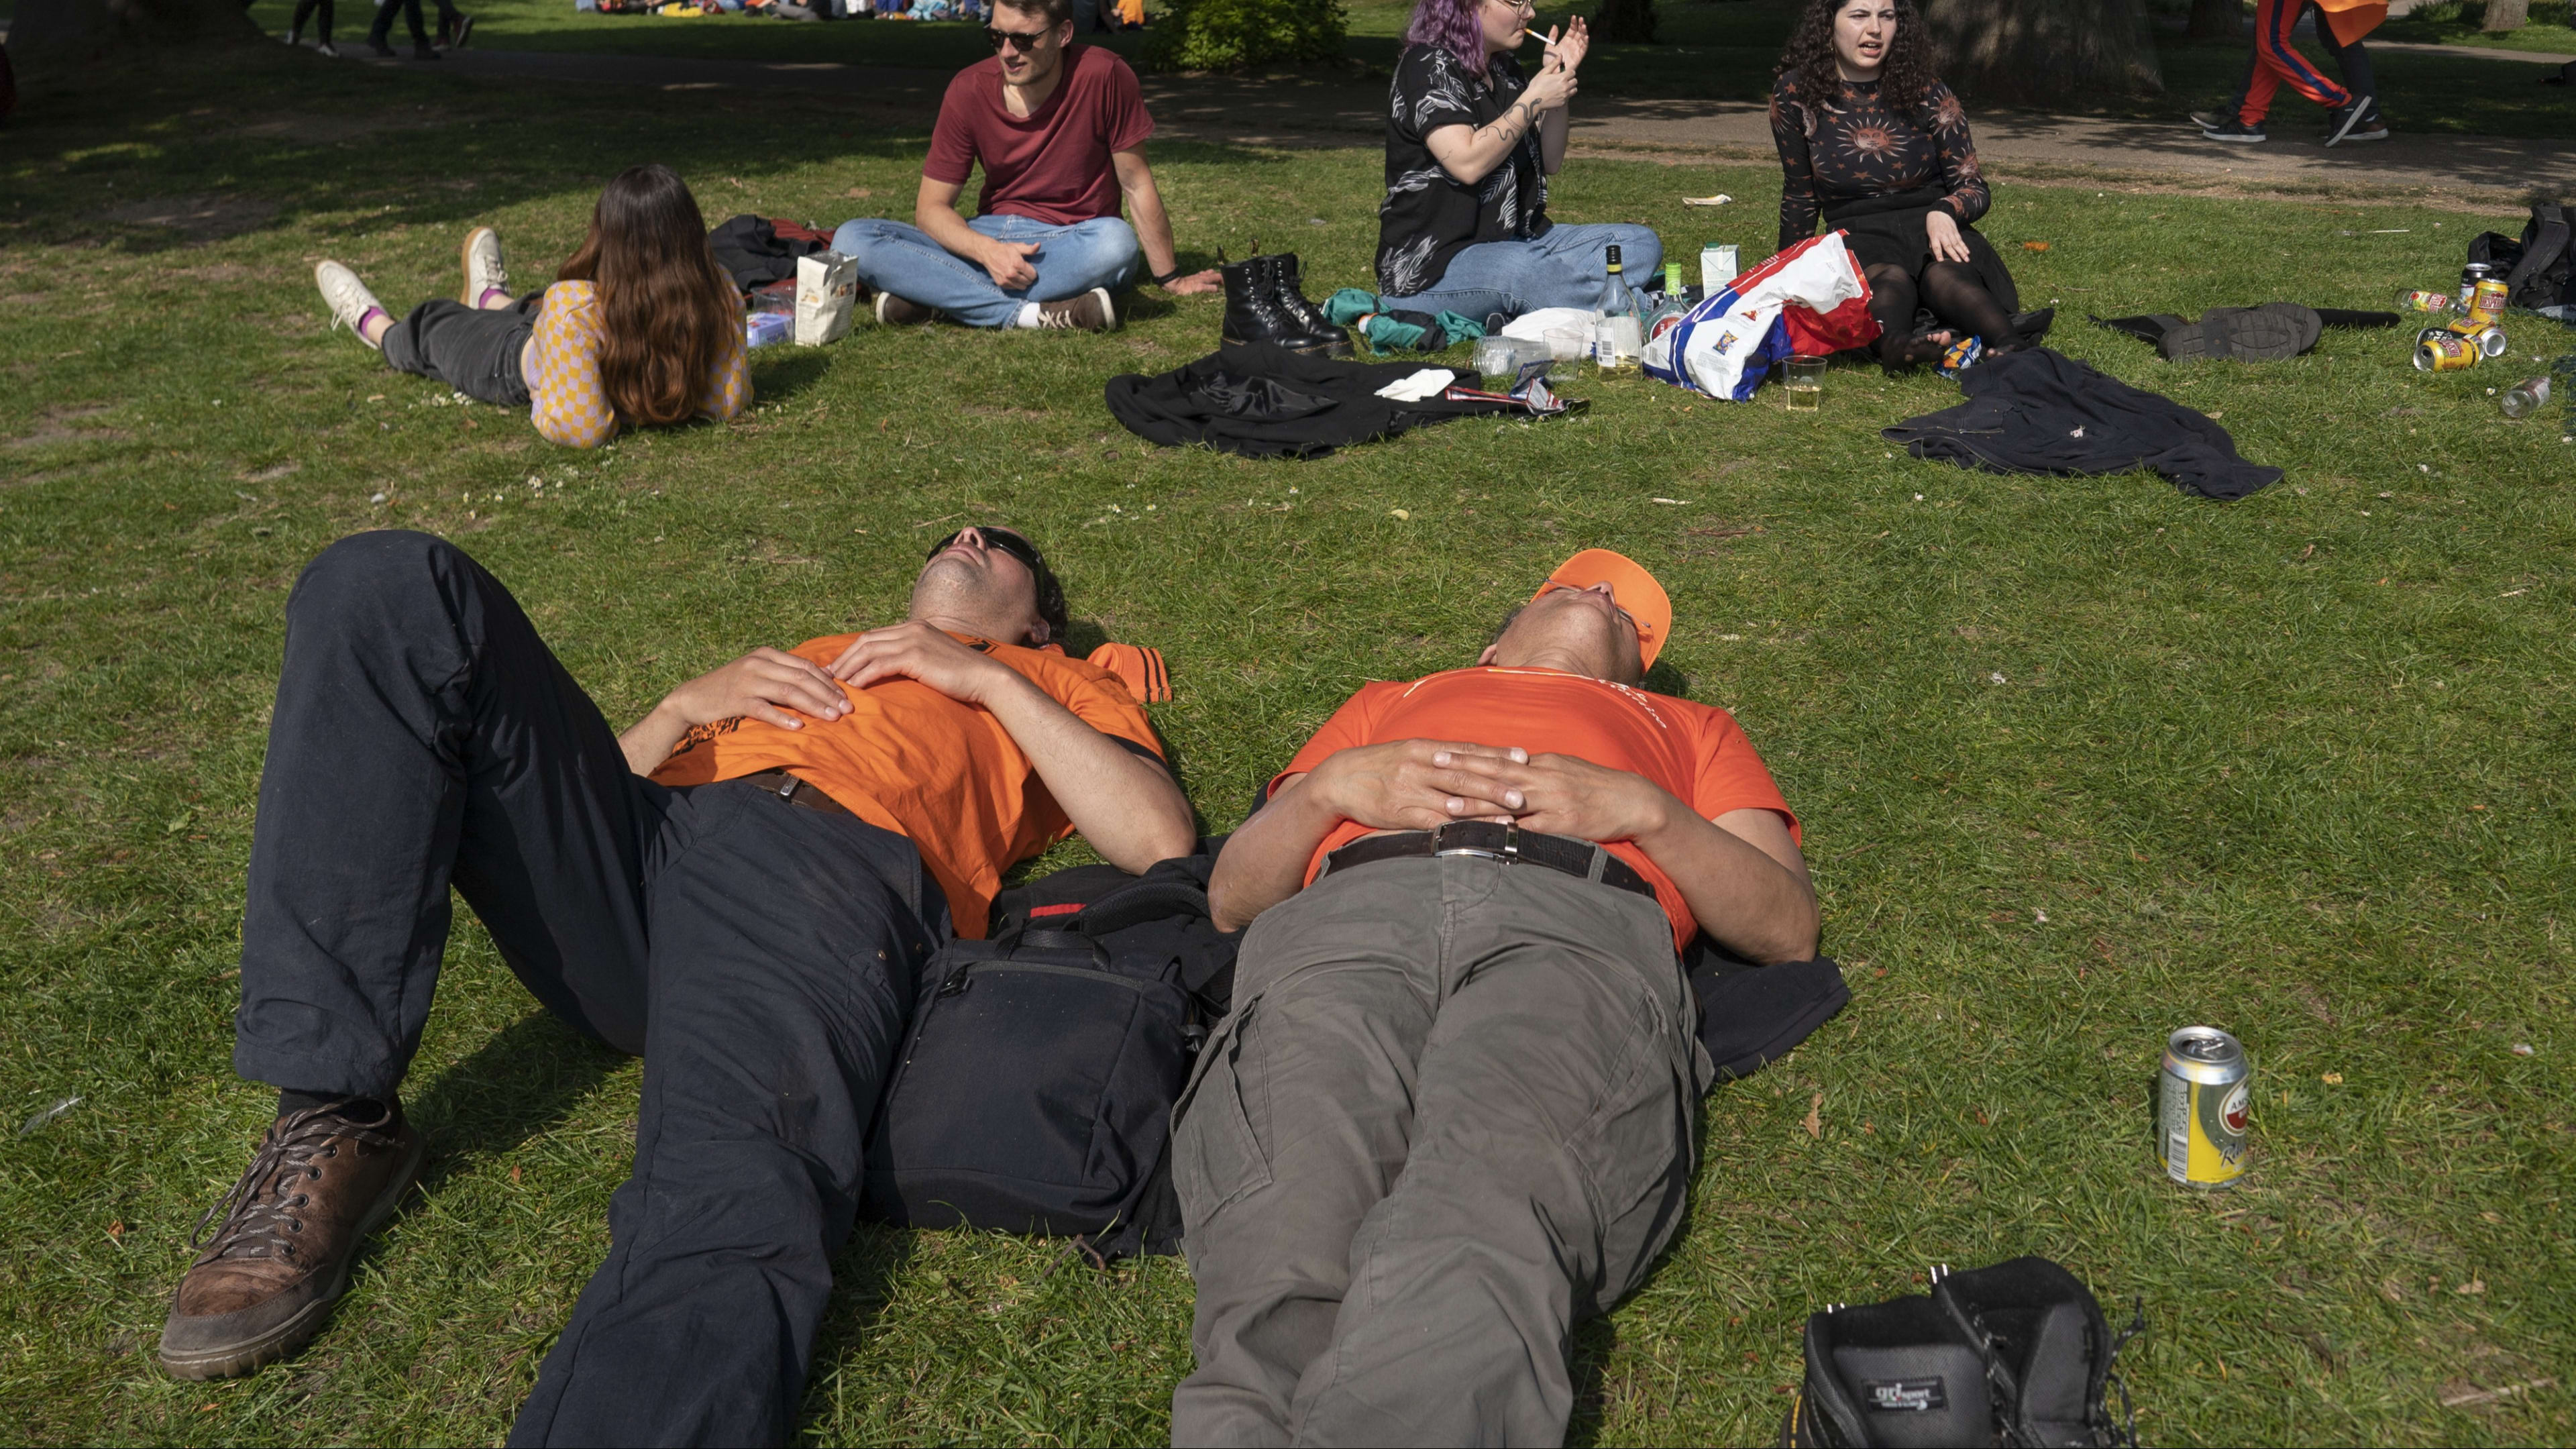
[[[623,1062],[546,1011],[520,1016],[404,1101],[430,1142],[420,1191],[562,1124]]]

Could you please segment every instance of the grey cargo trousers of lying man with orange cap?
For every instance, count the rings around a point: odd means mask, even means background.
[[[1680,1227],[1710,1075],[1649,897],[1450,856],[1262,913],[1172,1137],[1172,1441],[1564,1441],[1574,1323]]]

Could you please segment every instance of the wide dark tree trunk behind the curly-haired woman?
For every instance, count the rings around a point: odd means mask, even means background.
[[[1953,90],[1981,101],[2161,93],[2143,0],[1922,0]]]

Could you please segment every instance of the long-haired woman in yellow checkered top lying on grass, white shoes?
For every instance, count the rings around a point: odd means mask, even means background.
[[[314,268],[332,320],[394,371],[438,379],[477,402],[528,407],[549,443],[595,449],[621,425],[732,418],[752,400],[742,294],[706,250],[698,199],[667,165],[608,183],[590,237],[546,291],[510,297],[500,232],[474,227],[461,302],[394,320],[350,268]]]

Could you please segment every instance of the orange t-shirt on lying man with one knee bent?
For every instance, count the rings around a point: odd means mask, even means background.
[[[791,652],[829,665],[855,637],[806,639]],[[1092,730],[1162,758],[1144,706],[1110,670],[1056,652],[958,639],[1018,670]],[[909,838],[948,892],[958,936],[981,938],[1002,871],[1066,838],[1074,822],[987,709],[909,678],[842,686],[842,694],[850,696],[850,714],[832,722],[799,714],[804,730],[750,717],[701,724],[654,766],[652,779],[711,784],[788,771],[868,825]]]

